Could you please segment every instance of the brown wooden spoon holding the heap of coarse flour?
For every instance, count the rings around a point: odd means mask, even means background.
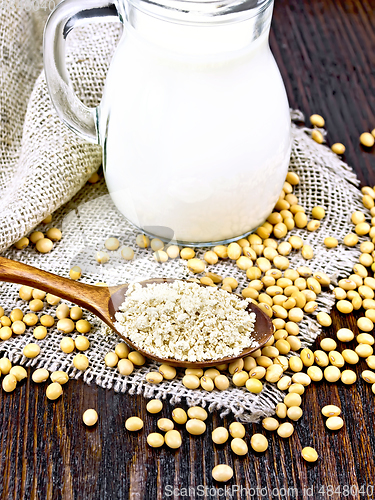
[[[247,311],[254,312],[256,315],[254,331],[252,337],[259,344],[257,347],[248,347],[244,349],[238,356],[202,361],[191,362],[181,361],[177,359],[164,359],[154,354],[150,354],[142,349],[139,349],[127,337],[124,337],[115,328],[115,313],[119,310],[120,305],[125,300],[125,293],[128,285],[118,286],[94,286],[85,283],[79,283],[68,278],[63,278],[56,274],[48,273],[37,269],[27,264],[22,264],[14,260],[0,257],[0,281],[8,281],[10,283],[18,283],[38,288],[47,293],[57,295],[62,299],[69,300],[85,309],[88,309],[98,316],[104,323],[110,326],[132,349],[139,351],[144,356],[150,359],[167,363],[173,366],[183,366],[188,368],[204,368],[207,366],[215,366],[222,363],[230,363],[236,359],[243,358],[251,352],[264,346],[273,334],[273,325],[270,318],[254,304],[249,304]],[[142,286],[149,283],[172,283],[174,279],[156,278],[141,282]],[[202,285],[204,286],[204,285]]]

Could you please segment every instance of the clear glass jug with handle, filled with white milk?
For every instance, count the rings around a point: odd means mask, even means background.
[[[261,225],[290,158],[290,114],[269,48],[273,0],[64,0],[45,30],[62,120],[103,147],[117,208],[152,237],[217,244]],[[76,24],[124,25],[101,104],[74,94],[64,44]]]

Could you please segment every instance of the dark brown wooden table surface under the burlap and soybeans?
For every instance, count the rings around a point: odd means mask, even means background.
[[[374,151],[359,145],[361,132],[375,128],[375,0],[276,0],[271,44],[290,105],[307,116],[321,113],[329,143],[343,142],[346,161],[364,184],[375,184]],[[354,327],[354,317],[334,315],[334,325]],[[358,375],[364,369],[356,367]],[[343,409],[345,426],[327,432],[320,408]],[[82,425],[82,412],[97,408],[94,429]],[[0,391],[0,492],[2,499],[371,499],[374,484],[374,408],[371,386],[313,384],[303,398],[304,415],[291,439],[270,434],[269,450],[235,458],[229,446],[214,450],[210,415],[203,437],[184,433],[182,448],[151,450],[147,432],[125,432],[129,409],[144,417],[142,397],[115,394],[95,385],[70,381],[63,398],[47,402],[45,387],[28,380],[13,394]],[[164,411],[164,410],[163,410]],[[165,415],[170,408],[165,408]],[[226,423],[226,421],[224,422]],[[254,425],[248,433],[260,430]],[[314,446],[316,464],[301,459]],[[248,491],[220,492],[211,478],[219,462],[233,466],[231,485]],[[171,488],[176,492],[171,494]],[[192,488],[184,491],[182,488]],[[208,488],[203,494],[203,488]],[[232,495],[232,496],[231,496]]]

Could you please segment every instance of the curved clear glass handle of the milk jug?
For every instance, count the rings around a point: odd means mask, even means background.
[[[96,108],[75,95],[65,64],[65,42],[75,26],[85,21],[120,21],[116,5],[108,0],[64,0],[48,18],[44,30],[44,71],[53,105],[62,121],[79,136],[98,144]]]

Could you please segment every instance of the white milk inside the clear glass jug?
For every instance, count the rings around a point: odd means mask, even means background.
[[[221,57],[171,55],[132,31],[111,62],[100,111],[105,177],[136,226],[203,243],[271,213],[287,173],[290,115],[268,31]]]

